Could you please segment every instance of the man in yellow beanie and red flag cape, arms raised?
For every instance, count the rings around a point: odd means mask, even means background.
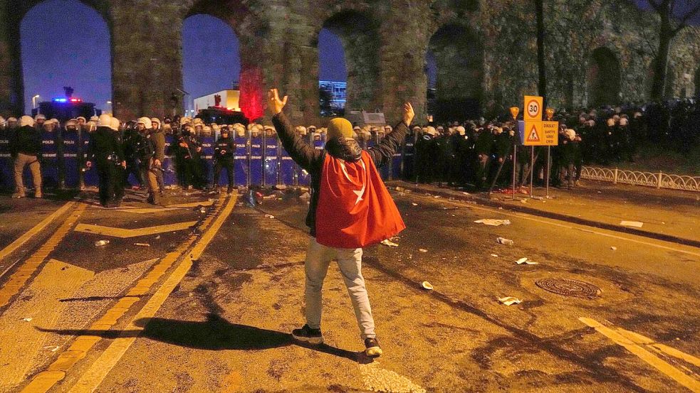
[[[323,343],[321,289],[330,261],[335,259],[348,287],[365,353],[379,356],[382,348],[362,277],[362,247],[388,239],[406,227],[377,168],[390,162],[404,140],[414,117],[413,107],[404,104],[402,122],[366,151],[352,139],[348,120],[332,119],[325,147],[318,150],[296,134],[282,112],[286,103],[287,97],[280,99],[277,89],[268,92],[268,107],[282,146],[311,177],[306,216],[311,235],[305,260],[306,324],[294,329],[292,335],[306,343]]]

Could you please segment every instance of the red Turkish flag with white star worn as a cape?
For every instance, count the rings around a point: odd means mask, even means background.
[[[351,163],[325,154],[316,208],[316,242],[360,248],[406,228],[374,161],[366,151]]]

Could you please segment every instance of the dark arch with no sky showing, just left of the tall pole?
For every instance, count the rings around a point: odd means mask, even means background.
[[[476,33],[466,26],[442,26],[430,38],[426,59],[428,111],[435,121],[479,117],[484,50]]]

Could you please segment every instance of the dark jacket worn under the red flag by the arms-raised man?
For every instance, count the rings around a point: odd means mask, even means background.
[[[308,214],[306,215],[306,225],[310,228],[310,235],[316,236],[316,206],[318,206],[318,189],[321,182],[321,171],[323,170],[323,161],[325,154],[328,153],[335,158],[341,158],[345,161],[355,162],[360,159],[362,148],[357,144],[355,139],[340,138],[330,139],[323,150],[314,149],[313,146],[304,141],[301,136],[298,136],[294,131],[294,126],[289,122],[284,112],[276,114],[272,118],[275,129],[282,141],[282,146],[287,151],[289,156],[305,169],[311,176],[310,194],[311,200],[309,204]],[[379,144],[367,149],[367,154],[370,155],[372,161],[377,168],[389,163],[394,156],[395,151],[401,146],[401,142],[406,137],[408,126],[404,122],[399,122],[394,127],[394,131],[386,134],[384,139]]]

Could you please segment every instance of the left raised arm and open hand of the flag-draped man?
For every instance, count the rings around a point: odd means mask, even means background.
[[[282,141],[282,146],[289,156],[298,166],[301,166],[306,171],[310,171],[310,168],[320,161],[323,151],[314,149],[301,139],[301,136],[296,134],[294,126],[282,112],[282,109],[287,104],[287,98],[287,96],[284,96],[283,99],[280,99],[277,89],[271,89],[268,92],[268,108],[273,114],[272,122],[275,125],[280,141]]]

